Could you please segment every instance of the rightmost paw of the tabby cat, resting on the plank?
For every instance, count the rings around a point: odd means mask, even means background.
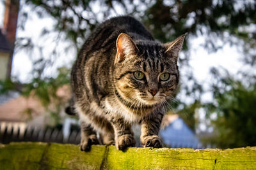
[[[159,136],[146,136],[141,140],[143,147],[163,148],[163,142]]]

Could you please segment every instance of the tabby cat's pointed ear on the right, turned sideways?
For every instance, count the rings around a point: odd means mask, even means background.
[[[187,33],[186,33],[187,34]],[[176,38],[174,41],[170,43],[164,44],[164,48],[166,48],[166,55],[168,57],[171,57],[170,59],[173,60],[174,62],[177,62],[178,57],[179,57],[179,51],[182,48],[184,38],[186,37],[186,34],[183,34],[179,38]]]

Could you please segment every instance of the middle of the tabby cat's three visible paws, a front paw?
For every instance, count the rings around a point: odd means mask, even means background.
[[[118,150],[125,150],[128,147],[134,147],[136,144],[135,139],[131,134],[124,134],[116,139],[116,148]]]

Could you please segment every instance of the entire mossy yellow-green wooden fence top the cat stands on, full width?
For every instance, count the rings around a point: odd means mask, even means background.
[[[129,148],[11,143],[0,145],[0,169],[255,169],[256,147],[235,149]]]

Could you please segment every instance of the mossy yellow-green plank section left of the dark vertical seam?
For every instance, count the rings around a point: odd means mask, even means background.
[[[100,169],[105,149],[84,153],[77,145],[10,143],[0,145],[0,169]]]

